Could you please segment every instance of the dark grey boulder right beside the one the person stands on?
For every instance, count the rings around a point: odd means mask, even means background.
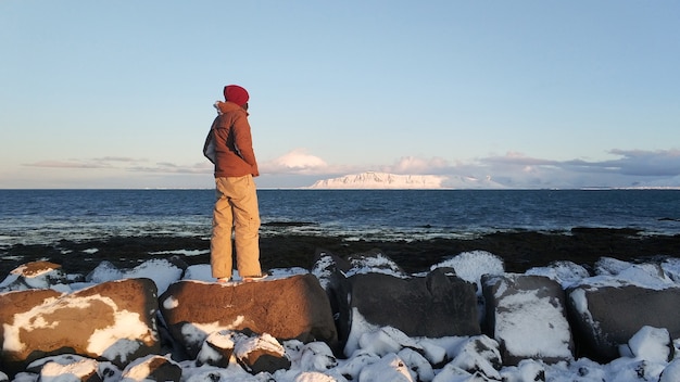
[[[378,327],[392,327],[408,336],[427,338],[481,332],[475,284],[448,276],[444,269],[435,269],[418,278],[358,273],[349,280],[352,319],[347,355],[354,351],[357,339],[366,330]]]

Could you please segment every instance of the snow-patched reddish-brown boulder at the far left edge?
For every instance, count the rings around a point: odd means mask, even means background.
[[[156,288],[150,279],[105,282],[71,294],[0,294],[3,370],[50,355],[77,354],[125,366],[160,351]]]

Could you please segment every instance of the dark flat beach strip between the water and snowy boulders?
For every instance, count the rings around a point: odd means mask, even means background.
[[[172,251],[207,251],[204,237],[147,235],[113,237],[102,240],[68,241],[53,244],[22,245],[0,250],[0,275],[33,260],[61,264],[68,273],[84,273],[102,260],[121,268],[131,268],[151,258],[168,258]],[[92,250],[97,252],[92,253]],[[317,251],[338,256],[378,249],[405,271],[429,269],[449,257],[467,251],[487,251],[505,262],[508,272],[545,266],[555,260],[571,260],[592,266],[601,257],[621,260],[650,260],[654,257],[680,257],[680,234],[647,235],[633,229],[574,228],[570,232],[495,232],[473,239],[430,239],[416,241],[345,241],[342,237],[277,234],[261,238],[265,268],[308,268]],[[187,264],[209,264],[209,254],[178,255]]]

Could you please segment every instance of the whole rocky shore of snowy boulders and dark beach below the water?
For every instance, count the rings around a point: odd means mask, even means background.
[[[26,265],[3,282],[11,293],[0,302],[0,369],[9,374],[0,381],[64,374],[76,364],[91,375],[171,381],[260,372],[277,381],[680,380],[680,235],[593,228],[412,242],[278,235],[262,238],[262,249],[265,267],[278,268],[273,276],[226,284],[211,282],[206,238],[0,250],[3,269]],[[56,264],[37,262],[45,259]],[[113,334],[105,342],[102,328]],[[38,359],[38,351],[49,356]]]

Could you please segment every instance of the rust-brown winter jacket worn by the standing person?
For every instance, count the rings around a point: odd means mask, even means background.
[[[221,114],[211,127],[215,135],[215,178],[259,176],[248,112],[232,102],[218,102],[217,107]]]

